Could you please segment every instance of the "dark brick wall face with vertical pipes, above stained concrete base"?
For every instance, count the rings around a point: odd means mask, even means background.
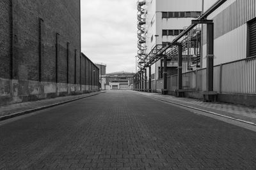
[[[42,81],[56,80],[56,32],[59,36],[58,82],[74,83],[74,50],[80,53],[79,0],[13,1],[14,78],[39,80],[42,34]],[[44,20],[40,31],[39,18]],[[67,42],[70,56],[67,73]],[[77,57],[77,83],[79,83],[79,57]]]

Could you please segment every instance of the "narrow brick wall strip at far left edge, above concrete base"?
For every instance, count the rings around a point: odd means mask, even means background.
[[[10,0],[0,1],[0,78],[10,78],[12,8]]]

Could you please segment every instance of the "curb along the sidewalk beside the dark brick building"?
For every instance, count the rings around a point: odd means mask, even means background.
[[[76,98],[76,99],[70,99],[68,101],[63,101],[63,102],[60,102],[60,103],[54,103],[54,104],[50,104],[50,105],[47,105],[47,106],[42,106],[40,108],[34,108],[34,109],[31,109],[31,110],[25,110],[25,111],[20,111],[20,112],[16,112],[16,113],[11,113],[10,115],[1,116],[0,121],[7,120],[7,119],[13,118],[13,117],[19,117],[21,115],[26,115],[28,113],[32,113],[32,112],[35,112],[35,111],[44,110],[44,109],[47,109],[47,108],[52,108],[54,106],[58,106],[58,105],[65,104],[65,103],[70,103],[72,101],[78,101],[80,99],[84,99],[86,97],[96,96],[96,95],[102,94],[102,93],[105,93],[105,92],[97,92],[96,94],[89,94],[88,96],[79,97],[79,98]]]

